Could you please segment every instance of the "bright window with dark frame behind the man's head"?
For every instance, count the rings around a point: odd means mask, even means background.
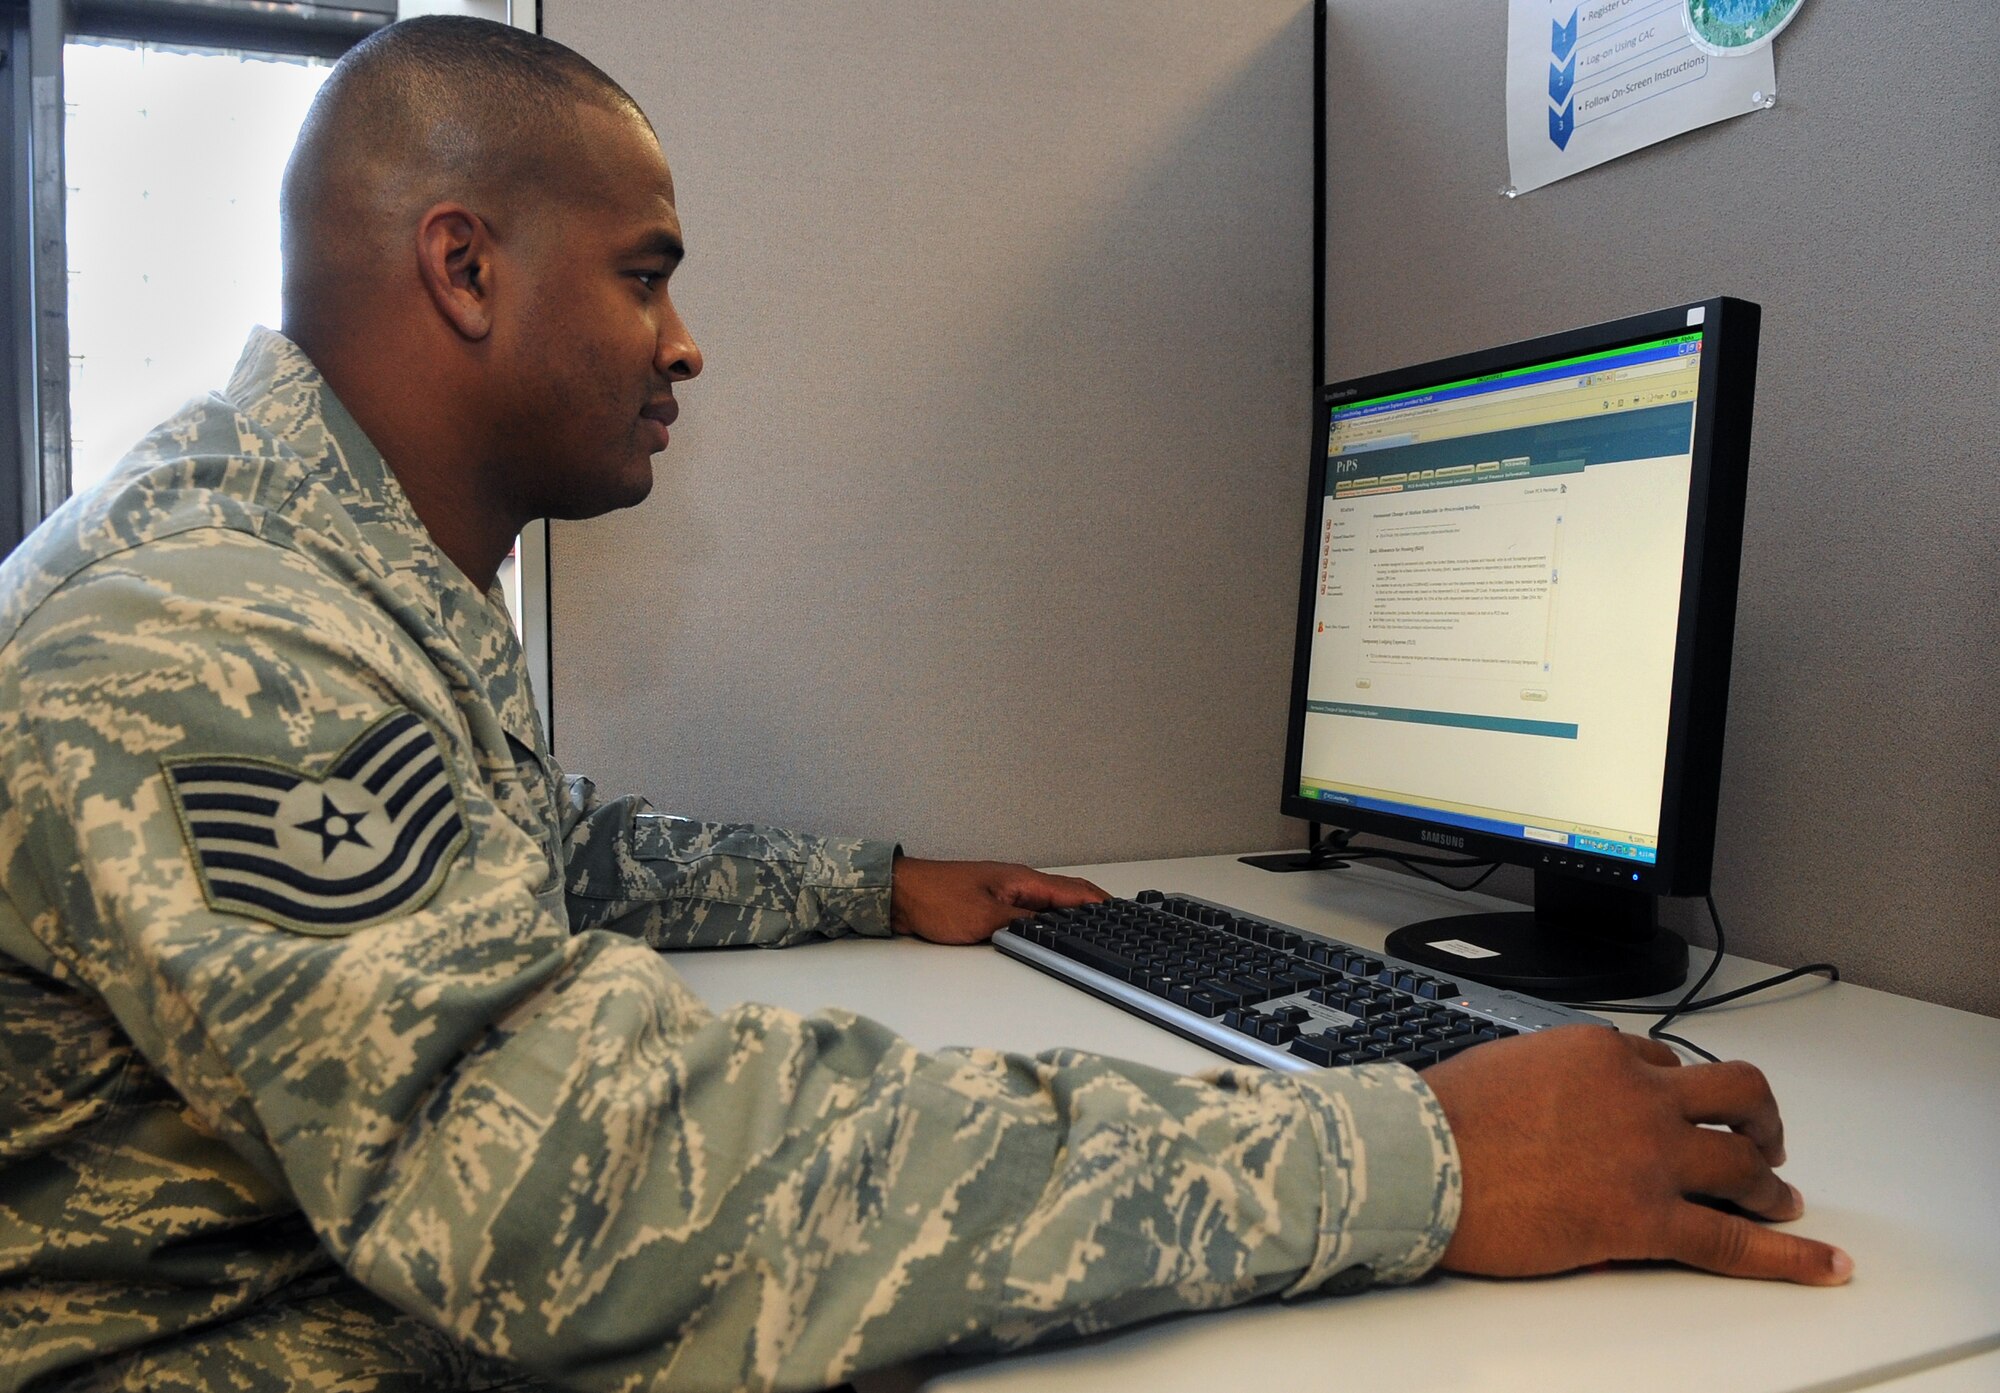
[[[0,0],[0,554],[278,328],[278,182],[334,60],[536,0]],[[12,410],[8,410],[12,408]],[[546,528],[502,568],[548,723]]]

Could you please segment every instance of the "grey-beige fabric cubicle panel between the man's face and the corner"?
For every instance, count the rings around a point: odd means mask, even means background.
[[[666,144],[708,366],[552,528],[554,745],[1038,863],[1274,847],[1308,0],[550,0]]]

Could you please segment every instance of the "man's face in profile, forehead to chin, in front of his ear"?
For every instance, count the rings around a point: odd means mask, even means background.
[[[702,370],[668,298],[682,256],[674,180],[652,130],[584,106],[578,168],[530,208],[510,256],[500,438],[536,516],[588,518],[652,490],[672,388]],[[506,274],[506,270],[502,272]]]

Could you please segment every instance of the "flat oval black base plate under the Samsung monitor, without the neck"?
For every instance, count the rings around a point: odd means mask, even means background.
[[[1534,911],[1426,919],[1392,933],[1386,951],[1544,1001],[1656,997],[1688,979],[1688,941],[1672,929],[1614,937],[1550,925]]]

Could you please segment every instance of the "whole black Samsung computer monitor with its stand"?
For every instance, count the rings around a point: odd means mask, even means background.
[[[1756,304],[1324,390],[1284,813],[1534,869],[1388,951],[1558,1001],[1686,979],[1708,889]]]

